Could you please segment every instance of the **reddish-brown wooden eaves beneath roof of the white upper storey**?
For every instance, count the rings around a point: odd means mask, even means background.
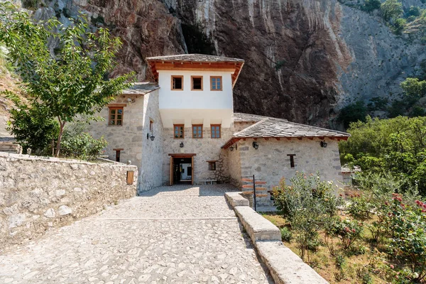
[[[158,82],[158,71],[160,70],[181,70],[181,71],[220,71],[232,72],[232,87],[235,86],[236,80],[244,66],[242,62],[198,62],[198,61],[182,61],[182,60],[151,60],[147,59],[149,67],[153,72],[155,81]]]

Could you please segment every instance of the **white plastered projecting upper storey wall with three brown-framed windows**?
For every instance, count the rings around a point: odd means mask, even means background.
[[[222,124],[222,127],[229,128],[234,112],[231,75],[232,72],[217,71],[158,71],[163,126],[173,128],[173,124]],[[182,90],[172,89],[172,76],[183,76]],[[192,76],[202,76],[202,90],[191,90]],[[211,90],[211,76],[222,77],[222,90]]]

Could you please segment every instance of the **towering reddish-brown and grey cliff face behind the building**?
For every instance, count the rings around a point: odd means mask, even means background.
[[[134,70],[138,80],[149,80],[144,58],[152,55],[243,58],[236,111],[322,126],[350,102],[400,92],[399,83],[426,56],[424,46],[393,35],[378,16],[337,0],[54,0],[48,6],[64,23],[81,10],[94,26],[119,35],[124,48],[115,72]]]

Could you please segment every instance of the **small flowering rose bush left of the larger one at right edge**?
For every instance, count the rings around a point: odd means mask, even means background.
[[[354,241],[361,237],[362,230],[362,224],[358,221],[336,219],[332,224],[329,224],[327,234],[339,237],[342,241],[343,249],[349,250]]]

